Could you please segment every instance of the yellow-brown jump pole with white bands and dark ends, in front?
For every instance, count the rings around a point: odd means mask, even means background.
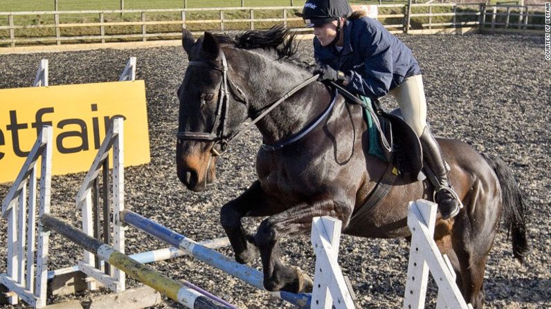
[[[178,301],[191,309],[237,309],[229,303],[216,303],[197,287],[190,288],[184,283],[175,281],[155,272],[151,268],[131,259],[126,254],[120,253],[113,247],[98,241],[69,223],[66,223],[51,214],[42,214],[40,221],[44,227],[54,230],[65,238],[69,239],[84,250],[94,252],[103,261],[113,265],[115,268],[134,277],[138,281],[149,285],[174,301]]]

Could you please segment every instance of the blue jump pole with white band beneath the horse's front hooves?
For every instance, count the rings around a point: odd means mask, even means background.
[[[262,272],[255,270],[247,265],[242,265],[228,258],[224,254],[221,254],[215,250],[209,249],[192,239],[178,234],[168,228],[156,223],[155,221],[145,218],[132,210],[125,209],[123,212],[120,212],[120,221],[123,221],[136,229],[141,230],[151,236],[165,241],[174,247],[179,248],[183,252],[195,256],[199,259],[214,268],[218,268],[227,274],[230,274],[233,277],[241,279],[242,281],[253,285],[255,288],[264,290],[263,278],[264,275]],[[293,303],[293,305],[298,306],[299,308],[310,308],[311,303],[311,294],[299,293],[294,294],[291,292],[270,292],[275,297]]]

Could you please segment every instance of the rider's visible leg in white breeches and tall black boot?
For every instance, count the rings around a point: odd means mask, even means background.
[[[435,202],[438,203],[442,218],[455,216],[459,212],[460,201],[451,188],[444,155],[426,124],[426,99],[422,75],[404,79],[404,82],[390,91],[390,95],[398,101],[404,120],[419,136],[424,163],[431,168],[439,182],[439,186],[435,187]]]

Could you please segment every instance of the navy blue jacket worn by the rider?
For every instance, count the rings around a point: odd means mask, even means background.
[[[413,53],[379,21],[370,17],[349,19],[344,25],[344,44],[321,46],[314,38],[314,57],[350,77],[347,90],[372,99],[383,97],[406,77],[421,74]]]

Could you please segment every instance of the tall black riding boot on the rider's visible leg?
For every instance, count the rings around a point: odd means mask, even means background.
[[[452,218],[458,214],[461,202],[449,183],[444,155],[440,150],[440,145],[431,134],[431,130],[428,129],[428,125],[419,140],[423,147],[424,163],[433,171],[437,180],[437,184],[433,183],[435,186],[434,201],[438,204],[438,210],[444,220]]]

